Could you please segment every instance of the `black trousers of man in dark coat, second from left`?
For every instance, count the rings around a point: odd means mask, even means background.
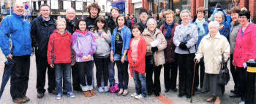
[[[55,71],[50,68],[47,62],[47,57],[40,56],[40,52],[36,50],[36,63],[37,63],[37,93],[45,93],[45,76],[48,69],[48,92],[52,92],[56,89]]]

